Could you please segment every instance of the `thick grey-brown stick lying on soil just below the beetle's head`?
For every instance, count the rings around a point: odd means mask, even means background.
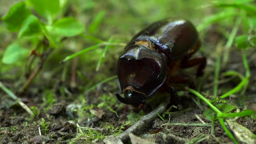
[[[166,111],[168,105],[167,101],[169,100],[163,101],[157,108],[151,111],[148,115],[144,115],[143,117],[141,117],[137,123],[133,124],[130,128],[128,128],[126,131],[120,134],[117,138],[120,138],[121,141],[125,142],[129,139],[130,133],[138,134],[144,128],[149,127],[152,121],[158,117],[158,114],[162,115],[164,111]]]

